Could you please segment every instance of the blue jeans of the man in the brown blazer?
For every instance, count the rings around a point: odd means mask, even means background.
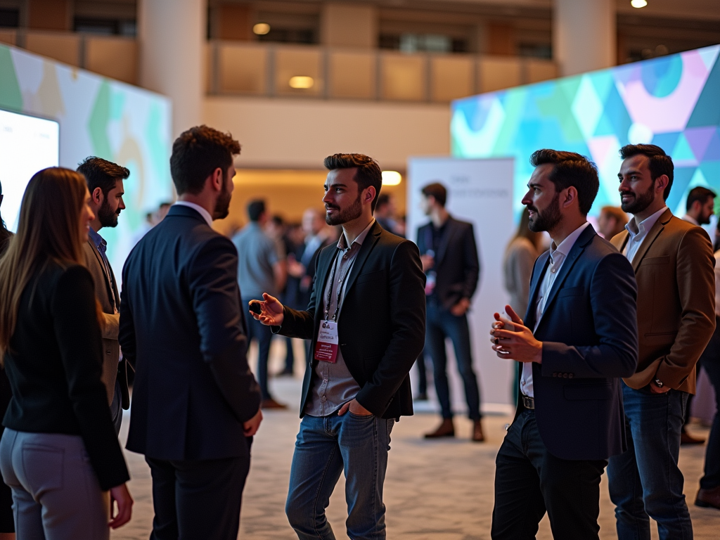
[[[680,428],[688,392],[653,394],[623,383],[628,450],[608,464],[618,540],[649,540],[650,519],[660,540],[691,540],[683,473],[678,468]]]

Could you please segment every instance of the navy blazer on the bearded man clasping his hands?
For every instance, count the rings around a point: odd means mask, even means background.
[[[524,323],[531,330],[549,251],[533,269]],[[545,304],[535,338],[535,416],[551,454],[607,459],[627,449],[621,377],[638,359],[637,284],[627,258],[588,225],[567,254]],[[518,414],[523,403],[518,399]],[[517,418],[517,415],[516,415]]]

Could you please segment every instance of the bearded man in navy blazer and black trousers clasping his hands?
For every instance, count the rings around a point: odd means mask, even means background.
[[[625,451],[620,377],[637,366],[632,267],[586,217],[595,164],[537,150],[523,204],[547,231],[524,320],[505,306],[490,330],[498,357],[522,363],[518,408],[495,461],[492,539],[530,540],[548,513],[556,540],[598,539],[600,476]]]

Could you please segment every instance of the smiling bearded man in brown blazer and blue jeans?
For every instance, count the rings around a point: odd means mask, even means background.
[[[608,464],[618,540],[649,540],[649,518],[660,540],[692,539],[678,454],[695,364],[715,328],[713,249],[665,204],[670,156],[655,145],[626,145],[620,155],[621,206],[634,217],[612,243],[635,271],[639,361],[623,385],[628,451]]]

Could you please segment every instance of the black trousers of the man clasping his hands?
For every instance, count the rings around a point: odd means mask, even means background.
[[[535,411],[523,411],[495,458],[491,538],[534,540],[547,511],[555,540],[598,539],[600,477],[607,463],[553,456],[540,437]]]

